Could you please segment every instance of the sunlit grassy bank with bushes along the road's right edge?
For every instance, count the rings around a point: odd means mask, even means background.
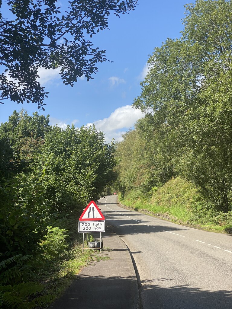
[[[178,224],[232,233],[232,211],[225,214],[214,210],[193,184],[180,177],[154,188],[149,196],[130,191],[124,196],[119,193],[118,199],[122,205]]]

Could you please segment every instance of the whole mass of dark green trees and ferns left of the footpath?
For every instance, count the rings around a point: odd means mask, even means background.
[[[40,295],[37,274],[69,256],[68,214],[97,200],[114,178],[114,145],[102,132],[48,123],[49,116],[21,111],[0,126],[1,308],[51,300]]]

